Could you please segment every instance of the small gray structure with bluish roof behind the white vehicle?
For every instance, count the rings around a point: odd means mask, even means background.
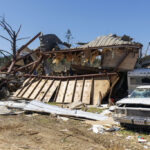
[[[150,85],[150,69],[140,68],[128,72],[128,93],[137,86]]]

